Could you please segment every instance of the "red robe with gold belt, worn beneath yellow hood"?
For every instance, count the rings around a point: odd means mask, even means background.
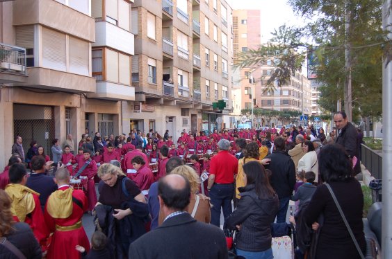
[[[67,190],[70,188],[69,186],[64,186],[58,189],[59,190]],[[90,250],[90,242],[88,241],[88,237],[85,234],[83,226],[79,229],[74,229],[71,231],[56,231],[57,226],[72,226],[76,224],[76,222],[81,221],[83,217],[83,212],[88,209],[87,198],[85,197],[82,190],[73,190],[72,197],[79,200],[81,202],[81,208],[75,202],[72,202],[72,214],[70,217],[66,219],[55,219],[51,217],[47,212],[47,208],[45,206],[44,218],[49,231],[54,233],[51,238],[51,245],[49,246],[47,259],[76,259],[81,258],[81,253],[76,251],[76,244],[79,244],[81,247],[85,248],[85,251]]]

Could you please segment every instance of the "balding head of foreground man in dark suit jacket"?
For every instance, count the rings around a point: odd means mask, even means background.
[[[175,211],[184,211],[190,202],[190,184],[181,175],[167,175],[158,181],[159,205],[168,216]]]

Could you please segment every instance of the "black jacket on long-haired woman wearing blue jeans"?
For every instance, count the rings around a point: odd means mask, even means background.
[[[274,222],[279,207],[277,195],[270,199],[260,199],[254,190],[254,184],[240,190],[241,199],[236,210],[227,218],[228,229],[238,231],[237,248],[244,251],[266,251],[271,248],[271,223]]]

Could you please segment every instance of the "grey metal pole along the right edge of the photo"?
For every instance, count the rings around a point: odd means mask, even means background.
[[[392,16],[389,13],[391,0],[385,0],[382,6],[382,28],[391,30]],[[392,33],[388,34],[389,39]],[[392,259],[392,64],[386,66],[383,60],[382,71],[382,258]]]

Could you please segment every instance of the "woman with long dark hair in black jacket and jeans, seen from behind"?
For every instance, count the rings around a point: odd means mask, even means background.
[[[243,165],[245,187],[236,210],[227,218],[227,229],[238,229],[236,251],[245,258],[273,258],[271,228],[279,208],[277,194],[270,186],[266,170],[259,161]]]

